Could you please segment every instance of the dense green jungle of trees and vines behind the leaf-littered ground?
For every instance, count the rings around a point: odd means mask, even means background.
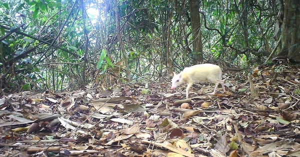
[[[299,62],[296,0],[2,1],[2,90],[161,81],[198,63]],[[164,79],[165,80],[165,79]]]

